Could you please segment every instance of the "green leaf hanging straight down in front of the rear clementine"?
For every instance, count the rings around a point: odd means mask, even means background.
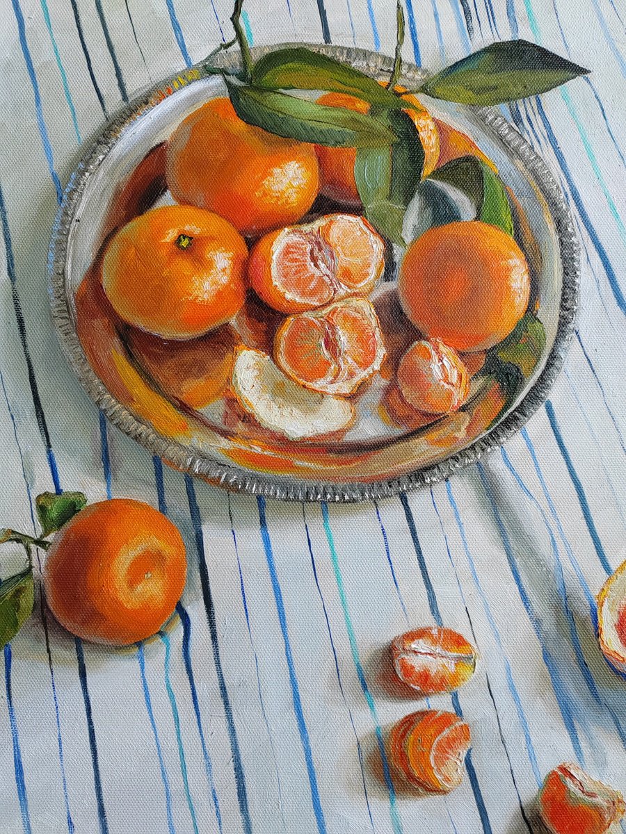
[[[393,145],[356,151],[355,179],[366,218],[392,243],[405,246],[402,224],[406,206],[422,181],[424,149],[406,113],[377,112],[397,136]]]

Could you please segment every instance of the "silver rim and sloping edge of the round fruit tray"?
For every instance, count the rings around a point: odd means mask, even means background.
[[[366,50],[321,45],[310,48],[374,76],[384,77],[384,71],[391,69],[390,58]],[[268,51],[270,48],[255,48],[253,57]],[[236,53],[223,54],[220,60],[224,66],[236,66],[237,58]],[[416,87],[425,75],[407,64],[401,83]],[[358,461],[356,467],[343,465],[341,455],[336,455],[333,465],[306,465],[301,470],[295,467],[295,475],[285,475],[271,467],[268,472],[265,466],[233,463],[223,454],[219,439],[210,433],[194,442],[159,434],[150,420],[139,419],[109,393],[78,339],[74,304],[78,284],[103,238],[102,218],[119,180],[167,138],[191,110],[220,94],[224,94],[224,88],[219,78],[202,78],[194,69],[151,89],[107,125],[69,180],[54,224],[48,261],[51,306],[63,351],[91,399],[120,430],[174,468],[230,490],[282,500],[357,501],[397,495],[445,479],[502,445],[543,404],[563,365],[578,306],[579,256],[573,219],[552,173],[494,108],[472,109],[430,101],[428,105],[434,115],[469,133],[494,159],[522,204],[541,252],[538,315],[547,331],[546,349],[525,389],[495,425],[472,442],[459,440],[460,448],[453,447],[452,451],[441,448],[441,442],[439,448],[429,445],[424,430],[390,443],[393,454],[385,451],[378,456],[367,455],[369,463],[365,465]],[[286,455],[285,460],[289,457]]]

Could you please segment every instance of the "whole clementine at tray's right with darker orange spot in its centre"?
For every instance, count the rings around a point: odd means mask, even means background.
[[[511,333],[528,307],[522,250],[480,220],[429,229],[401,264],[402,307],[423,334],[456,350],[485,350]]]

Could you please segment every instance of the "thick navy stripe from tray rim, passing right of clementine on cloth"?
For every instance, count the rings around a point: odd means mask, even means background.
[[[194,482],[191,480],[189,475],[184,476],[184,485],[185,489],[187,490],[189,516],[191,518],[191,523],[194,526],[195,545],[196,550],[198,552],[198,570],[200,575],[200,585],[202,586],[202,598],[204,600],[204,610],[206,611],[206,619],[209,624],[211,648],[213,650],[213,661],[215,663],[215,673],[217,675],[218,686],[220,687],[220,697],[224,705],[226,727],[228,730],[230,741],[230,751],[233,754],[233,771],[235,772],[237,801],[239,803],[241,820],[244,825],[245,834],[251,834],[252,824],[250,821],[250,811],[248,808],[248,794],[245,789],[244,766],[241,761],[239,741],[237,740],[237,731],[235,730],[235,721],[233,720],[233,711],[230,706],[230,697],[226,688],[224,670],[222,669],[220,643],[218,641],[217,636],[217,621],[215,619],[215,605],[213,602],[213,595],[211,593],[209,569],[207,567],[206,557],[204,555],[204,535],[202,533],[202,520],[200,518],[198,500],[195,495]]]

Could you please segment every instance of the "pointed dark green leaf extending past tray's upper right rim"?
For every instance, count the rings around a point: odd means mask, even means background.
[[[546,93],[588,72],[534,43],[502,41],[453,63],[420,92],[462,104],[502,104]]]

